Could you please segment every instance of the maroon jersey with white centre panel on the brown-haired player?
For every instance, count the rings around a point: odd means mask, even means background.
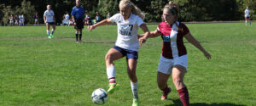
[[[157,27],[163,39],[162,56],[166,59],[173,59],[187,54],[186,47],[183,44],[183,36],[189,33],[189,29],[183,23],[176,22],[179,25],[168,25],[166,22],[161,22]]]

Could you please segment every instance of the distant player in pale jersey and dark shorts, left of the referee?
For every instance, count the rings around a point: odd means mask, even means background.
[[[51,10],[50,5],[47,5],[47,10],[44,12],[44,23],[46,24],[48,38],[54,38],[55,36],[53,36],[53,34],[55,32],[55,13],[53,10]],[[51,33],[49,33],[50,25],[52,26]]]

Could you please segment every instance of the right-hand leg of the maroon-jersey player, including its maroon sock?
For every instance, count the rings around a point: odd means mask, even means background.
[[[189,91],[183,82],[186,68],[182,65],[174,65],[172,68],[172,81],[177,89],[179,98],[183,102],[183,106],[189,106]]]

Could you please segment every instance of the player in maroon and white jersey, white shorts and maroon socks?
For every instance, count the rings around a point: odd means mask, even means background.
[[[169,76],[172,75],[172,81],[183,106],[189,106],[189,92],[183,83],[188,68],[188,55],[183,44],[183,37],[199,48],[207,59],[211,59],[211,54],[207,53],[201,44],[195,40],[186,25],[177,21],[177,14],[177,4],[166,5],[162,16],[163,22],[160,23],[157,30],[150,32],[149,37],[161,36],[163,39],[162,55],[157,74],[158,86],[163,91],[161,99],[165,100],[171,92],[171,88],[167,86],[166,82]]]

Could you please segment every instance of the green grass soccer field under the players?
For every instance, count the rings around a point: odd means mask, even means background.
[[[190,32],[212,54],[186,42],[189,69],[184,82],[191,106],[256,105],[256,23],[187,24]],[[157,25],[148,25],[154,31]],[[0,27],[0,105],[95,105],[96,88],[108,90],[105,54],[117,38],[115,25],[84,29],[75,43],[73,26],[58,26],[49,40],[43,26]],[[139,33],[143,33],[140,31]],[[170,99],[161,101],[156,73],[160,37],[148,39],[139,52],[137,78],[141,106],[182,105],[172,83]],[[119,91],[108,95],[107,106],[131,106],[132,93],[126,61],[114,62]]]

